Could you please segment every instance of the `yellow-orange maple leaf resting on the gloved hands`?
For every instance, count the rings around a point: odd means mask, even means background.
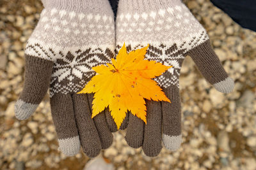
[[[152,80],[172,66],[145,60],[148,46],[127,53],[125,44],[112,64],[93,67],[93,76],[78,94],[95,93],[92,118],[109,107],[117,128],[120,128],[127,111],[147,124],[145,99],[170,102],[157,82]],[[144,99],[145,98],[145,99]]]

